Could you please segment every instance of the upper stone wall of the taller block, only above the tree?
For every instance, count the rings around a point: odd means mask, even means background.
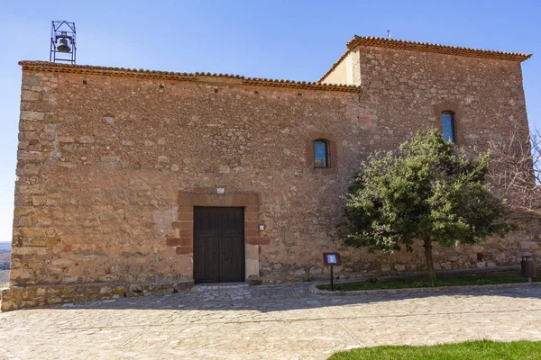
[[[371,119],[388,132],[384,148],[418,129],[441,129],[445,110],[455,112],[457,143],[474,152],[514,129],[527,133],[518,61],[362,46],[355,51]]]

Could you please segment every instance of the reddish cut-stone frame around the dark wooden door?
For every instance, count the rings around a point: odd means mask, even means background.
[[[194,206],[243,207],[244,208],[244,258],[245,281],[257,281],[260,277],[260,246],[269,243],[260,237],[259,193],[186,193],[179,192],[179,217],[172,223],[177,238],[167,238],[167,246],[176,247],[177,255],[192,258],[194,255]]]

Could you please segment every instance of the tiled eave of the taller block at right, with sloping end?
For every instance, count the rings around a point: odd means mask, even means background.
[[[367,36],[355,35],[352,40],[349,40],[346,44],[347,50],[344,55],[333,64],[333,66],[322,76],[319,81],[328,76],[335,67],[350,53],[351,50],[357,46],[373,47],[373,48],[386,48],[386,49],[401,49],[418,52],[434,52],[436,54],[454,55],[468,58],[491,58],[495,60],[508,60],[508,61],[524,61],[530,58],[532,54],[520,54],[518,52],[504,52],[496,50],[483,50],[483,49],[471,49],[462,48],[458,46],[448,46],[440,44],[431,44],[428,42],[417,42],[408,40],[395,40],[386,38],[375,38]]]

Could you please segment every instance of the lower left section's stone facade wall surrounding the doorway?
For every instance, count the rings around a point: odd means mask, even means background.
[[[11,284],[192,282],[167,239],[179,193],[216,187],[261,194],[265,264],[321,268],[310,243],[335,247],[362,112],[358,94],[25,71]],[[340,139],[333,174],[306,165],[317,131]]]

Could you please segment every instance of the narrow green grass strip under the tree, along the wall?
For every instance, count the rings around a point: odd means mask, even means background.
[[[473,274],[447,274],[438,276],[437,286],[458,286],[458,285],[488,285],[488,284],[514,284],[526,283],[527,279],[517,271],[497,273],[473,273]],[[538,278],[533,279],[534,282]],[[376,290],[376,289],[405,289],[415,287],[429,287],[430,284],[422,277],[401,278],[393,280],[381,280],[371,278],[356,283],[335,284],[335,290],[340,292],[351,292],[355,290]],[[317,285],[320,290],[330,290],[329,284]]]

